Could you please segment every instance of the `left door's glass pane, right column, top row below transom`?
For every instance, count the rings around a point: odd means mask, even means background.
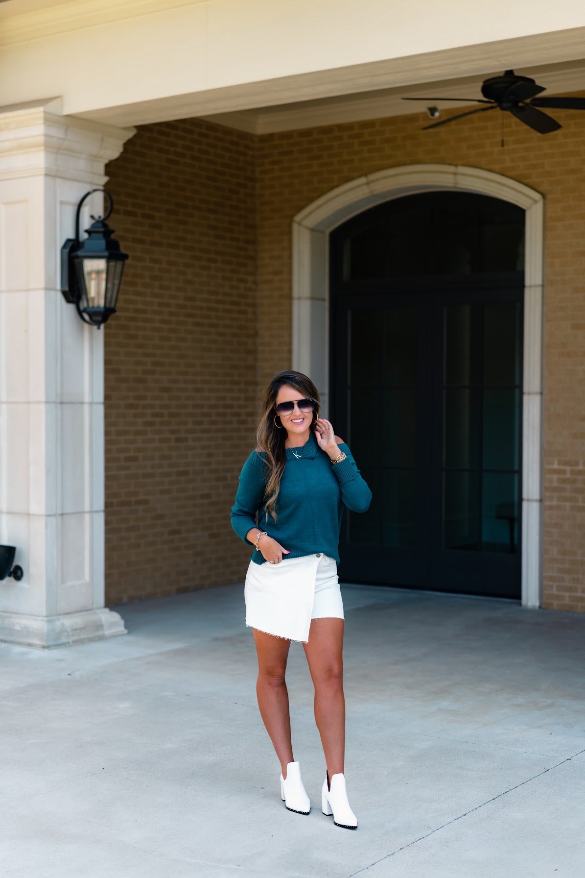
[[[395,306],[385,309],[385,384],[411,387],[417,385],[418,321],[416,307]]]

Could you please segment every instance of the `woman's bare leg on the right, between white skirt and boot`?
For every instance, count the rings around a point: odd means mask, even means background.
[[[312,619],[303,644],[315,686],[315,721],[330,779],[343,774],[346,751],[346,700],[343,694],[343,619]]]

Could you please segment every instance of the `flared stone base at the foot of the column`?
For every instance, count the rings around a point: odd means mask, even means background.
[[[0,613],[0,641],[40,649],[127,633],[122,616],[108,608],[46,616]]]

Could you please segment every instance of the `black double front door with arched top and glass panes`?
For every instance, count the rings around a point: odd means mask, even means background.
[[[373,501],[345,581],[518,597],[524,212],[399,199],[332,235],[332,421]]]

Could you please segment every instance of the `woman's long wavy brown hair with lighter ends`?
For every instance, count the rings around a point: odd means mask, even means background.
[[[315,425],[321,411],[317,387],[302,372],[292,370],[279,372],[264,392],[260,407],[260,421],[256,431],[256,441],[258,443],[257,451],[263,451],[265,455],[266,491],[264,493],[264,520],[266,522],[268,522],[268,515],[272,515],[274,521],[277,520],[276,501],[281,490],[282,472],[286,463],[284,443],[287,438],[287,431],[282,427],[282,421],[276,412],[276,397],[283,385],[288,385],[293,390],[296,390],[299,399],[309,398],[315,400],[316,406],[310,425],[312,433],[315,432]]]

